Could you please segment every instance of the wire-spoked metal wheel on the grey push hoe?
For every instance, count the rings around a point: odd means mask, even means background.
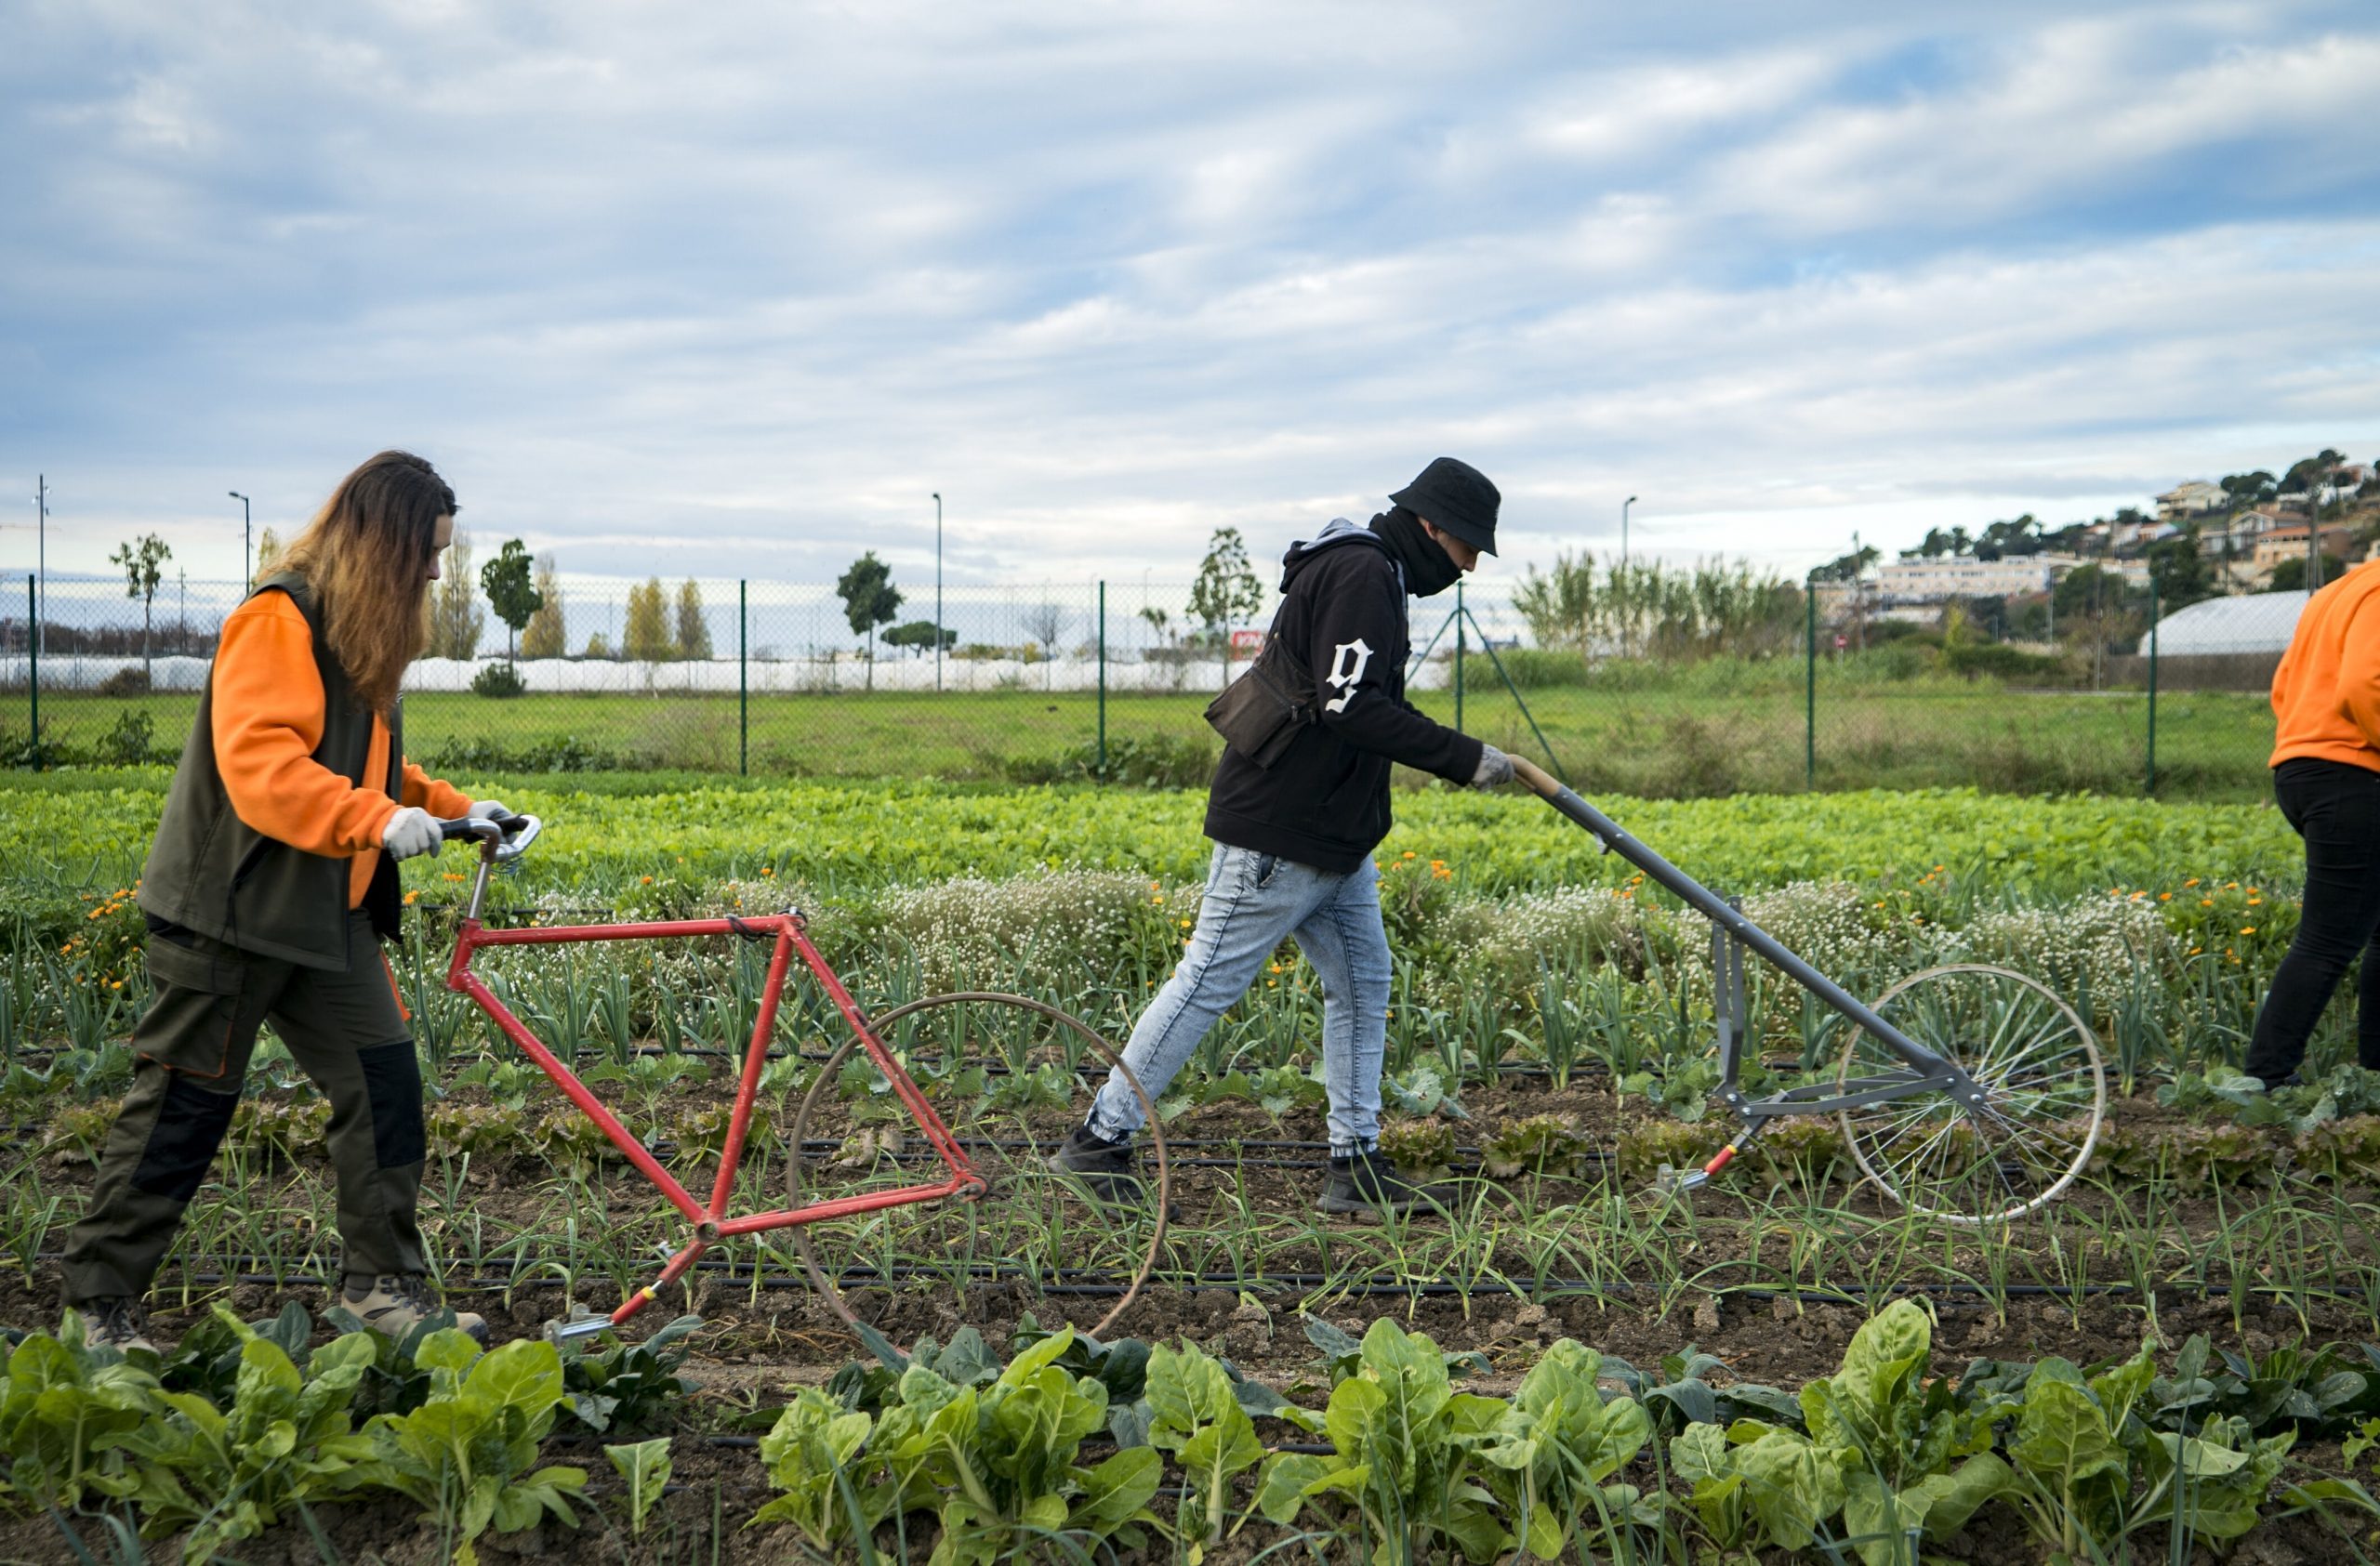
[[[1980,1107],[1925,1092],[1835,1114],[1861,1173],[1902,1209],[1940,1223],[2006,1223],[2090,1169],[2106,1123],[2106,1064],[2056,990],[2013,969],[1949,964],[1911,973],[1873,1009],[1985,1092]],[[1854,1031],[1842,1080],[1890,1071],[1906,1064]]]

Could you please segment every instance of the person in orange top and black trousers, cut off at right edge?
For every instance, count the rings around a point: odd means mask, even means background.
[[[2297,1083],[2356,952],[2356,1059],[2380,1071],[2380,569],[2306,602],[2273,671],[2273,795],[2306,840],[2306,900],[2242,1066],[2266,1088]]]

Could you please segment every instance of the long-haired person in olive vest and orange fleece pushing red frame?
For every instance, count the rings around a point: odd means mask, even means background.
[[[440,816],[509,814],[405,759],[397,683],[452,533],[438,471],[381,452],[224,621],[140,878],[152,997],[133,1088],[67,1242],[90,1342],[152,1349],[140,1302],[267,1019],[331,1102],[338,1302],[397,1340],[445,1309],[416,1221],[421,1066],[381,940],[397,933],[395,862],[436,854]],[[478,1316],[457,1326],[486,1335]]]

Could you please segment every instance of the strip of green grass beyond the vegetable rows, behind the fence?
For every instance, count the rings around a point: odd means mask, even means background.
[[[1528,693],[1473,685],[1461,726],[1545,759],[1535,719],[1573,783],[1640,797],[1973,785],[1994,793],[2142,793],[2149,700],[2137,690],[2006,690],[1966,681],[1821,681],[1816,733],[1797,681],[1678,678],[1645,688]],[[1423,712],[1454,721],[1454,695]],[[1202,783],[1214,735],[1204,693],[1107,700],[1119,781]],[[52,762],[171,759],[195,697],[45,695]],[[140,731],[143,719],[148,731]],[[447,766],[507,771],[690,769],[781,778],[1061,781],[1090,776],[1100,702],[1090,693],[769,695],[738,726],[716,695],[414,695],[407,750]],[[0,754],[21,754],[24,697],[0,707]],[[2156,704],[2156,793],[2261,800],[2273,716],[2261,695],[2190,693]]]

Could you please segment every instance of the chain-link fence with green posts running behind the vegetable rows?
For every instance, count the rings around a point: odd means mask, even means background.
[[[1188,583],[902,583],[852,631],[833,585],[547,581],[547,619],[433,626],[407,750],[457,776],[697,769],[757,776],[1204,783],[1200,714],[1247,666],[1271,597],[1202,626]],[[238,583],[33,583],[0,600],[0,759],[169,762]],[[1457,607],[1461,609],[1457,614]],[[1414,702],[1576,785],[1635,795],[1980,785],[2259,797],[2268,688],[2304,607],[2261,593],[2023,647],[1825,614],[1761,654],[1533,645],[1509,590],[1418,600]],[[33,626],[40,635],[33,635]],[[940,626],[940,635],[935,628]],[[1906,633],[1918,631],[1918,633]],[[443,640],[440,640],[443,638]],[[507,643],[514,659],[507,662]],[[505,669],[519,676],[512,690]],[[38,674],[36,674],[38,671]]]

